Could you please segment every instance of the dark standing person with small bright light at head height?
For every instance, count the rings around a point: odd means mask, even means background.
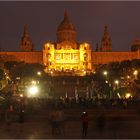
[[[82,136],[86,137],[87,136],[87,130],[88,130],[88,114],[87,112],[83,112],[82,114]]]

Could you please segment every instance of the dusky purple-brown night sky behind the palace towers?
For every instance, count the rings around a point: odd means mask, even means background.
[[[132,41],[140,39],[140,1],[1,1],[1,50],[19,51],[25,24],[35,50],[42,50],[47,41],[55,42],[65,9],[77,29],[77,41],[89,42],[93,50],[100,44],[105,25],[113,51],[130,51]]]

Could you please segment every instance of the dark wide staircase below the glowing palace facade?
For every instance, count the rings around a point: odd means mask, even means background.
[[[90,89],[91,79],[88,81],[83,77],[54,77],[50,89],[54,97],[75,97],[75,92],[81,97],[85,97],[87,87]],[[77,90],[77,91],[76,91]]]

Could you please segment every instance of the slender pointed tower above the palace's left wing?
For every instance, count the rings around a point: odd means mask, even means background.
[[[27,26],[24,26],[24,33],[21,38],[20,51],[28,52],[33,51],[33,44],[30,40]]]

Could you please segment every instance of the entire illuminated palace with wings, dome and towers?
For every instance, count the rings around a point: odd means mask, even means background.
[[[52,75],[84,75],[99,64],[121,62],[140,58],[140,41],[134,40],[131,52],[112,52],[111,38],[105,26],[101,45],[91,50],[89,43],[78,43],[76,29],[67,12],[57,28],[56,42],[46,42],[43,51],[34,51],[27,27],[24,27],[19,52],[0,52],[1,61],[24,61],[45,65],[45,71]]]

